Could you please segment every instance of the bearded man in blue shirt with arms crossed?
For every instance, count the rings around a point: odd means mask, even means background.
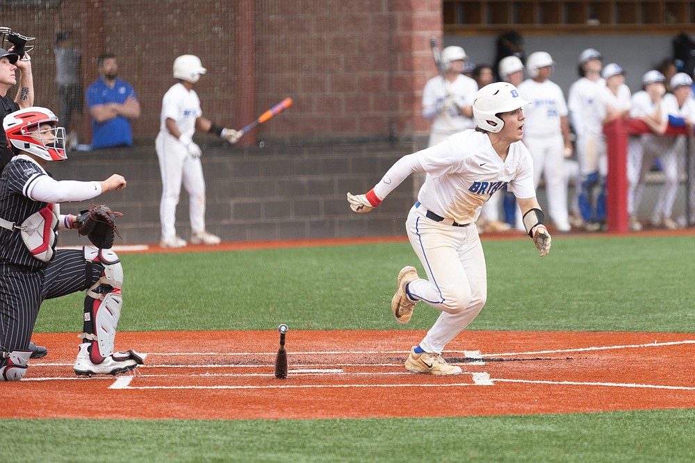
[[[92,149],[133,146],[130,119],[140,117],[140,102],[133,87],[117,78],[118,63],[111,53],[99,56],[99,78],[87,89],[92,119]]]

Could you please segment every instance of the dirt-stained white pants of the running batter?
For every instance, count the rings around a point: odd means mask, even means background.
[[[487,271],[475,224],[455,227],[427,219],[426,213],[423,205],[413,207],[406,221],[410,244],[428,278],[414,280],[409,292],[441,311],[420,342],[425,351],[441,353],[485,305]]]

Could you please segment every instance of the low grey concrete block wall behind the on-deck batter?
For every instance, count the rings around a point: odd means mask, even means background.
[[[354,214],[345,194],[368,191],[393,162],[417,149],[401,143],[335,146],[229,148],[204,146],[207,228],[226,241],[389,236],[404,233],[403,222],[414,203],[414,187],[406,180],[389,201],[371,214]],[[128,186],[95,199],[124,215],[118,219],[120,244],[156,243],[160,238],[161,176],[154,149],[122,149],[71,153],[49,171],[58,180],[103,180],[122,174]],[[61,212],[87,208],[64,203]],[[190,237],[188,197],[181,192],[177,232]],[[61,245],[84,244],[72,230],[60,234]]]

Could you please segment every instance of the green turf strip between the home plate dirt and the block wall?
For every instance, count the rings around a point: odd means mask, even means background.
[[[539,258],[530,239],[484,241],[488,302],[473,330],[695,332],[693,237],[556,237]],[[121,256],[120,330],[427,329],[390,301],[407,243]],[[81,330],[83,293],[46,301],[35,331]]]

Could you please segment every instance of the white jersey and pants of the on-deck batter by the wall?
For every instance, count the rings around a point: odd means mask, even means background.
[[[200,158],[188,154],[186,146],[167,131],[167,118],[176,121],[181,135],[193,137],[195,119],[202,116],[200,100],[195,90],[186,90],[182,83],[175,83],[164,94],[156,151],[162,176],[162,199],[159,215],[162,237],[176,236],[176,207],[181,194],[181,183],[189,195],[191,233],[205,230],[205,179]]]

